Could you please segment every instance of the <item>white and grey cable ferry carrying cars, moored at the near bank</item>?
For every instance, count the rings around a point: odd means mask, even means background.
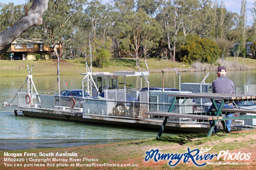
[[[148,71],[92,73],[91,69],[88,70],[87,73],[81,74],[84,76],[81,81],[82,94],[72,96],[61,94],[60,88],[58,94],[49,95],[38,92],[31,71],[28,69],[29,75],[23,83],[24,85],[27,82],[27,92],[17,93],[18,105],[12,105],[12,101],[10,103],[4,102],[2,108],[13,109],[15,115],[22,112],[25,116],[37,118],[159,130],[164,118],[145,113],[152,111],[168,112],[173,101],[173,97],[168,96],[168,94],[192,93],[171,88],[170,90],[164,90],[164,88],[150,90],[146,78],[149,75]],[[126,84],[126,77],[136,76],[141,78],[140,89],[132,88],[131,85]],[[123,82],[119,82],[119,77],[123,77]],[[142,80],[146,81],[148,85],[143,90],[141,90]],[[103,96],[102,93],[104,93]],[[202,112],[202,106],[199,108]],[[192,99],[177,100],[171,112],[193,113],[195,112],[194,101]],[[241,126],[232,127],[232,130],[235,131],[245,129],[246,127]],[[169,118],[165,126],[165,131],[175,132],[207,132],[208,130],[209,122],[199,122],[188,118]]]

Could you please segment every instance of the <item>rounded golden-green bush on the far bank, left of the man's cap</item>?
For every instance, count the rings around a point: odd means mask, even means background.
[[[220,55],[220,49],[213,40],[199,38],[198,35],[187,36],[181,46],[181,60],[185,63],[200,61],[215,63]]]

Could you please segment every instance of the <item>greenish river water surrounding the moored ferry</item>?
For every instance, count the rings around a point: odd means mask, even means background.
[[[256,71],[229,71],[227,77],[235,85],[256,84]],[[205,74],[207,74],[206,72]],[[181,72],[181,83],[201,82],[203,72]],[[150,87],[162,87],[162,73],[151,73],[146,76]],[[61,89],[81,88],[83,76],[61,76]],[[206,83],[216,79],[216,72],[210,72]],[[0,77],[0,104],[10,103],[20,89],[25,77]],[[140,77],[127,77],[126,84],[133,88],[140,88]],[[38,92],[58,91],[57,76],[34,76],[34,84]],[[123,78],[119,78],[123,82]],[[67,86],[65,85],[67,83]],[[21,89],[26,91],[27,84]],[[147,83],[142,79],[142,87]],[[179,76],[176,73],[164,73],[164,87],[179,88]],[[17,104],[17,100],[13,104]],[[0,150],[34,149],[45,147],[69,147],[114,141],[155,138],[157,131],[123,128],[62,120],[49,120],[26,117],[22,113],[15,116],[12,110],[0,108]],[[169,133],[168,135],[177,135]],[[167,135],[165,133],[165,135]]]

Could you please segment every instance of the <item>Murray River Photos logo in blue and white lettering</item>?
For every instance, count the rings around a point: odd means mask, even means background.
[[[211,148],[201,148],[190,150],[188,148],[187,153],[160,153],[158,149],[146,152],[145,161],[148,161],[149,159],[153,159],[155,162],[158,162],[159,160],[167,160],[168,164],[170,166],[175,166],[179,162],[186,163],[192,161],[197,166],[204,166],[207,164],[207,161],[212,160],[214,157],[217,157],[217,160],[222,158],[222,160],[249,160],[251,153],[241,153],[240,151],[238,153],[229,153],[229,150],[227,151],[220,151],[219,154],[207,154],[205,152],[210,151]],[[197,163],[198,161],[206,161],[206,163]]]

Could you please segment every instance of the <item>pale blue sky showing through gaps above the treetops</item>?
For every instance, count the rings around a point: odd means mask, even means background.
[[[101,0],[103,3],[108,2],[110,0]],[[214,0],[213,0],[214,1]],[[221,4],[221,1],[224,2],[226,9],[231,12],[236,12],[240,14],[240,8],[241,8],[241,0],[218,0],[219,5]],[[9,3],[14,2],[14,5],[18,4],[24,4],[26,0],[0,0],[1,3]],[[246,7],[247,7],[247,25],[252,25],[252,16],[250,9],[253,7],[254,0],[246,0]]]

